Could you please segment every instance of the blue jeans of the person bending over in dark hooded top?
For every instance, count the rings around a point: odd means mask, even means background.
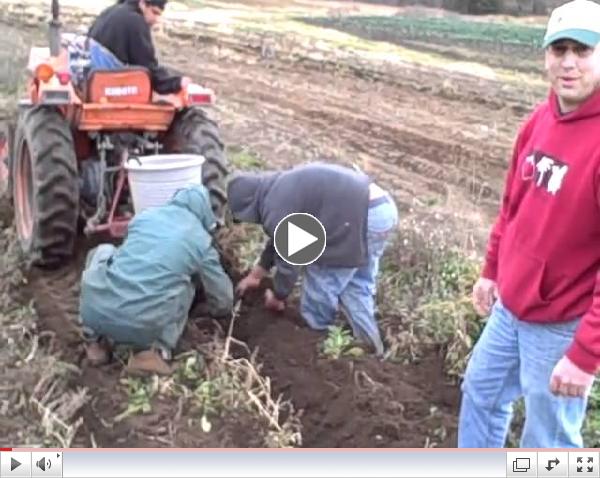
[[[354,335],[372,344],[383,355],[383,341],[375,320],[375,292],[379,260],[391,233],[398,224],[393,200],[369,209],[367,248],[369,262],[364,267],[327,267],[311,264],[304,270],[301,314],[308,325],[325,330],[333,325],[338,304],[348,318]]]

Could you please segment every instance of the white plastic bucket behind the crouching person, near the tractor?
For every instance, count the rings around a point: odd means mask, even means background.
[[[125,168],[136,213],[167,203],[175,191],[202,184],[204,156],[199,154],[156,154],[131,157]]]

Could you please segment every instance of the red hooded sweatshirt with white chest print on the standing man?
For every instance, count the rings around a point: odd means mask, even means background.
[[[561,114],[551,92],[523,125],[482,276],[528,322],[582,317],[567,356],[600,365],[600,91]]]

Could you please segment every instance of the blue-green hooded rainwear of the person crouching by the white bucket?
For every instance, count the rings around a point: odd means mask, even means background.
[[[233,307],[233,286],[209,231],[215,227],[208,191],[194,186],[130,223],[122,246],[83,273],[84,325],[118,343],[174,348],[192,304],[193,278],[202,283],[209,313]]]

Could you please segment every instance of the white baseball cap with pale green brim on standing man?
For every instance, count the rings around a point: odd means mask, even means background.
[[[543,47],[557,40],[574,40],[591,48],[600,43],[600,4],[573,0],[555,8],[548,20]]]

